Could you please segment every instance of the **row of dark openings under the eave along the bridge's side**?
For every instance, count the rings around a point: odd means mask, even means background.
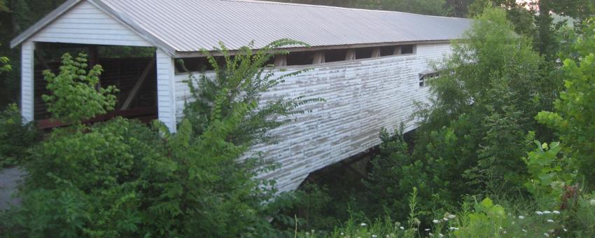
[[[416,45],[389,45],[381,47],[337,49],[321,51],[290,52],[289,55],[280,55],[271,59],[268,64],[275,66],[303,66],[328,62],[340,62],[354,59],[367,59],[389,55],[412,55],[416,52]],[[219,65],[225,64],[223,57],[215,57]],[[176,61],[176,70],[209,71],[213,66],[206,57],[193,57]]]

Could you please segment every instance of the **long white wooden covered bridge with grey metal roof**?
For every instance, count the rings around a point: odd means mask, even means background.
[[[281,162],[263,176],[276,178],[285,191],[376,146],[381,127],[405,123],[412,130],[414,102],[426,100],[424,80],[433,75],[428,62],[448,55],[449,41],[469,27],[462,18],[267,1],[69,0],[10,44],[22,49],[26,120],[48,126],[41,71],[59,65],[52,52],[84,49],[90,64],[104,66],[102,84],[121,90],[111,116],[158,118],[175,132],[190,96],[183,82],[190,72],[176,59],[197,71],[206,66],[200,49],[219,41],[232,51],[251,41],[256,48],[281,38],[308,43],[311,48],[289,48],[275,64],[314,70],[286,78],[264,98],[305,95],[325,102],[276,130],[279,144],[254,148]]]

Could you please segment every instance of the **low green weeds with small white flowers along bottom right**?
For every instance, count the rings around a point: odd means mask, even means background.
[[[328,235],[310,230],[298,232],[297,237],[592,237],[595,200],[589,197],[577,198],[580,211],[531,210],[533,206],[499,205],[486,198],[464,203],[457,213],[437,214],[427,225],[419,225],[415,216],[419,212],[413,209],[414,216],[404,223],[390,217],[351,219]],[[410,206],[415,208],[415,202],[423,202],[417,199],[409,200]]]

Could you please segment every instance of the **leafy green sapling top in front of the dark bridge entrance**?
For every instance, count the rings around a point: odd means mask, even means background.
[[[113,86],[95,88],[99,84],[102,66],[93,66],[87,73],[86,57],[80,54],[73,59],[65,54],[57,76],[50,71],[43,72],[48,90],[52,92],[43,95],[43,101],[48,104],[52,116],[64,123],[81,123],[113,110],[116,105],[114,93],[118,90]]]

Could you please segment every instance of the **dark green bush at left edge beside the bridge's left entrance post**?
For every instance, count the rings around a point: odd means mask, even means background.
[[[18,165],[38,139],[33,124],[23,123],[16,104],[0,112],[0,168]]]

